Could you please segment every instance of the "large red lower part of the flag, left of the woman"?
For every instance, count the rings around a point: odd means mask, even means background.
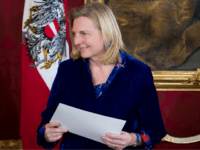
[[[21,125],[20,135],[23,150],[44,150],[37,145],[37,128],[41,122],[41,113],[47,107],[49,89],[36,68],[29,65],[25,45],[21,51]],[[58,150],[60,143],[54,148]]]

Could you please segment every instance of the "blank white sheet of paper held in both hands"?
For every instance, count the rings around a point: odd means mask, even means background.
[[[50,122],[58,121],[68,132],[105,144],[107,132],[120,134],[126,121],[107,117],[59,103]]]

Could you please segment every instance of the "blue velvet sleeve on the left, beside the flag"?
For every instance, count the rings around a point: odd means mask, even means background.
[[[62,64],[62,63],[61,63]],[[57,75],[54,79],[52,88],[51,88],[51,92],[50,92],[50,96],[48,99],[48,103],[47,103],[47,108],[42,112],[42,121],[37,129],[37,143],[39,146],[42,146],[43,148],[50,150],[53,147],[56,146],[56,144],[59,141],[56,141],[54,143],[48,143],[45,138],[44,138],[44,132],[45,132],[45,124],[49,123],[51,117],[53,116],[53,113],[55,112],[58,104],[59,104],[59,96],[60,96],[60,86],[61,86],[61,82],[60,82],[60,66],[58,68],[58,72]]]

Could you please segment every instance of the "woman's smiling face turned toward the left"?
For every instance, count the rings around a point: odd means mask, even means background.
[[[87,17],[79,17],[73,22],[73,43],[80,51],[82,58],[98,60],[106,52],[101,32],[95,23]]]

